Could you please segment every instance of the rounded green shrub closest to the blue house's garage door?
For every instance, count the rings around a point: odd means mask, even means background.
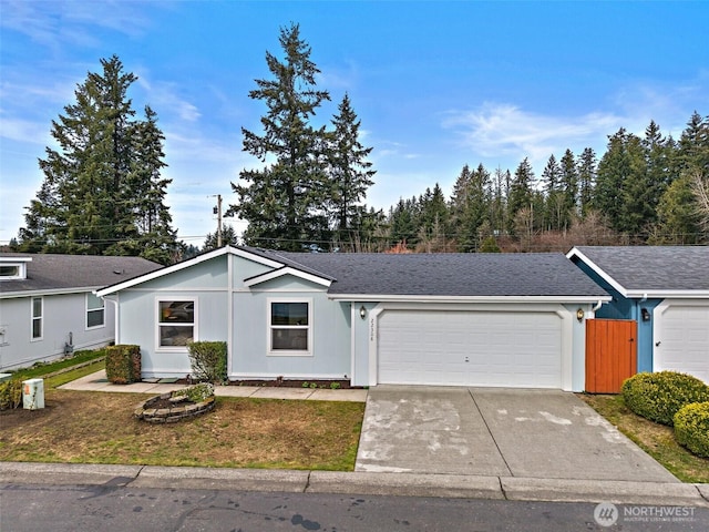
[[[620,392],[635,413],[670,427],[675,413],[684,406],[709,401],[709,386],[676,371],[637,374],[623,382]]]

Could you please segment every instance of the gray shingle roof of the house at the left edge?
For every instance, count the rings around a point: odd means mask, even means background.
[[[27,279],[0,282],[3,296],[25,291],[99,288],[162,268],[140,257],[1,253],[2,257],[31,257]]]

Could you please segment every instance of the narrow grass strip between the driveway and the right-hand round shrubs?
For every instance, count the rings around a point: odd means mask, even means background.
[[[682,482],[709,483],[709,460],[696,457],[677,443],[671,427],[631,412],[620,395],[584,393],[578,397]]]

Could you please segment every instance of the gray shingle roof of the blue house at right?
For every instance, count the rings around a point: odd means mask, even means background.
[[[627,290],[709,290],[709,246],[576,247]]]

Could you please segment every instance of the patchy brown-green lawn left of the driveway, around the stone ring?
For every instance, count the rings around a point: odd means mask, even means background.
[[[45,390],[42,410],[0,412],[0,461],[352,471],[363,403],[217,398],[214,411],[150,424],[150,396]]]

